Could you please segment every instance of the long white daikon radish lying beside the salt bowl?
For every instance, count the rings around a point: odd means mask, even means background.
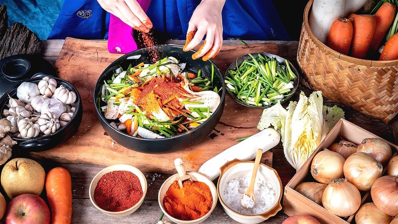
[[[238,159],[241,161],[253,160],[256,157],[258,149],[263,153],[279,144],[281,136],[273,128],[265,128],[236,145],[222,151],[210,160],[206,161],[197,172],[214,180],[220,175],[220,167],[225,163]]]

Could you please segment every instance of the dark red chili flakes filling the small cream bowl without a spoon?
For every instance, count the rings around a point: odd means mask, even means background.
[[[99,208],[119,212],[133,207],[143,195],[140,180],[130,171],[112,171],[103,175],[95,187],[94,200]]]

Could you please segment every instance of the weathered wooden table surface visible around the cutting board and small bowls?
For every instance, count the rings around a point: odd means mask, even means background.
[[[279,55],[289,59],[293,64],[296,64],[295,57],[299,42],[297,41],[245,41],[248,44],[254,43],[276,43],[278,46]],[[62,49],[64,40],[44,40],[44,53],[43,57],[55,64],[59,52]],[[183,44],[183,41],[169,41],[172,44]],[[225,46],[241,44],[239,41],[226,40],[224,42]],[[312,91],[299,86],[299,91],[304,91],[308,96]],[[226,98],[229,96],[226,96]],[[229,99],[230,100],[230,99]],[[297,100],[294,98],[292,100]],[[335,105],[336,103],[325,99],[326,105]],[[345,119],[378,135],[379,137],[396,143],[397,141],[397,125],[396,119],[390,124],[384,124],[378,119],[371,118],[369,116],[358,113],[350,107],[337,104],[343,108],[345,111]],[[239,106],[238,104],[236,106]],[[242,108],[237,108],[242,109]],[[250,110],[248,108],[244,108]],[[244,122],[244,121],[242,121]],[[244,128],[240,131],[244,132]],[[262,163],[265,163],[272,168],[276,169],[281,177],[282,184],[285,186],[290,178],[294,175],[295,170],[288,164],[283,153],[283,147],[279,144],[277,147],[273,148],[270,152],[266,152],[265,157],[263,156]],[[153,155],[153,156],[156,156]],[[72,223],[156,223],[159,220],[162,212],[158,204],[158,191],[162,183],[166,180],[170,174],[164,174],[159,172],[144,172],[146,180],[148,183],[148,191],[145,196],[144,203],[141,207],[134,212],[132,215],[126,217],[111,217],[98,211],[90,202],[88,189],[90,182],[94,175],[103,169],[105,166],[96,164],[78,164],[73,162],[59,163],[57,161],[41,161],[43,167],[48,171],[50,168],[55,166],[62,166],[69,170],[72,176]],[[148,161],[148,164],[151,162]],[[217,179],[214,181],[216,184]],[[270,217],[263,223],[281,223],[288,216],[280,211],[276,216]],[[163,220],[168,220],[166,216]],[[222,209],[220,203],[217,203],[216,209],[213,213],[206,219],[203,223],[237,223],[232,218],[230,218]]]

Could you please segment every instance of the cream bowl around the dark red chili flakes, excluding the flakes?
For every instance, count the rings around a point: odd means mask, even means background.
[[[141,188],[142,188],[142,197],[140,198],[140,200],[131,208],[123,210],[123,211],[119,211],[119,212],[110,212],[107,211],[105,209],[99,208],[99,206],[95,203],[94,200],[94,191],[95,188],[97,187],[98,181],[99,179],[101,179],[101,177],[109,172],[112,171],[130,171],[132,173],[134,173],[135,175],[138,176],[139,180],[140,180],[140,184],[141,184]],[[99,211],[102,211],[104,214],[109,215],[109,216],[116,216],[116,217],[120,217],[120,216],[127,216],[132,214],[133,212],[135,212],[143,203],[145,195],[146,195],[146,190],[147,190],[147,182],[146,182],[146,178],[144,176],[144,174],[137,169],[134,166],[131,165],[127,165],[127,164],[116,164],[116,165],[112,165],[112,166],[108,166],[106,168],[104,168],[103,170],[99,171],[93,178],[93,180],[91,181],[90,184],[90,188],[89,188],[89,196],[90,196],[90,200],[91,203],[94,205],[95,208],[97,208]]]

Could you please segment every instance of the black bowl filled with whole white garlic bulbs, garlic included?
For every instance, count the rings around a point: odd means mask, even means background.
[[[0,98],[1,119],[11,123],[14,149],[44,151],[66,142],[82,121],[82,101],[66,80],[37,76],[11,87]]]

